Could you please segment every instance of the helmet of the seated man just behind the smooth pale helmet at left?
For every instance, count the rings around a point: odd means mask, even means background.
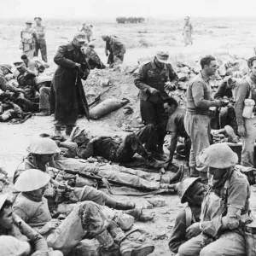
[[[57,144],[48,137],[33,139],[26,150],[32,154],[55,154],[61,152]]]

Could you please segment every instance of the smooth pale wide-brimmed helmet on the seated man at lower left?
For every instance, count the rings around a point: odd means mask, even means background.
[[[29,192],[43,188],[49,183],[49,174],[38,169],[28,169],[20,173],[15,183],[15,189],[20,192]]]

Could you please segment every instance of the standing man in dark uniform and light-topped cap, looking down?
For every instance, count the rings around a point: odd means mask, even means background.
[[[144,64],[135,79],[135,85],[140,90],[140,108],[143,123],[153,124],[157,132],[157,142],[146,145],[148,151],[157,154],[164,153],[163,144],[166,137],[167,119],[164,101],[169,98],[166,90],[175,90],[177,74],[168,62],[169,54],[158,52],[153,61]],[[174,81],[175,84],[172,84]],[[165,90],[166,89],[166,90]]]

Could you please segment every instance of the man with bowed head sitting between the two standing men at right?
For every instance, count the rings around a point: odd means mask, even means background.
[[[219,85],[214,99],[229,100],[230,103],[226,107],[218,108],[219,128],[224,128],[225,125],[230,125],[237,133],[236,113],[234,108],[234,96],[233,90],[236,86],[236,80],[232,78],[225,79],[222,84]]]

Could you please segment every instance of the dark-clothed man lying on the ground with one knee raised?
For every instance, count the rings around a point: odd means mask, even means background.
[[[78,147],[73,150],[73,155],[69,156],[88,159],[96,155],[113,162],[128,162],[137,153],[147,161],[149,166],[164,167],[164,162],[155,160],[143,147],[143,143],[147,143],[148,139],[154,136],[154,130],[154,125],[146,125],[137,133],[138,136],[131,133],[124,140],[117,142],[112,137],[92,137],[89,132],[79,131],[79,127],[75,127],[67,142],[77,143]],[[75,136],[75,134],[79,135]],[[62,146],[65,144],[62,143]]]

